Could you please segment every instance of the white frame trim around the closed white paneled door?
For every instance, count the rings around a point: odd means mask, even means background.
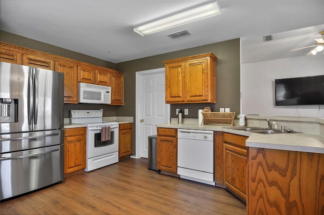
[[[139,98],[140,98],[140,84],[141,84],[141,76],[143,75],[150,75],[150,74],[157,74],[157,73],[162,73],[165,72],[165,68],[157,68],[157,69],[150,69],[150,70],[144,70],[144,71],[138,71],[136,72],[136,98],[135,98],[135,108],[136,108],[136,113],[135,113],[135,130],[140,131],[140,114],[141,114],[141,108],[142,105],[139,103]],[[170,106],[167,109],[167,116],[168,116],[168,122],[170,122]],[[138,132],[136,132],[139,134]],[[133,158],[141,158],[141,140],[140,140],[140,135],[136,135],[136,140],[135,140],[135,156],[132,156]]]

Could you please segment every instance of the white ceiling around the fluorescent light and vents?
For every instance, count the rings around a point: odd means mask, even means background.
[[[220,0],[221,15],[147,36],[134,26],[206,1],[0,1],[1,30],[113,63],[239,37],[242,63],[296,57],[311,48],[290,50],[315,45],[324,30],[323,0]],[[184,29],[191,35],[167,36]]]

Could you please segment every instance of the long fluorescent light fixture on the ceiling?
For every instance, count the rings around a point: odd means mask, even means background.
[[[162,17],[134,28],[142,36],[221,14],[217,1]]]

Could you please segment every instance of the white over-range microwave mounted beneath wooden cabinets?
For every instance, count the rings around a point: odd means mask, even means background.
[[[78,103],[110,104],[111,87],[78,83]]]

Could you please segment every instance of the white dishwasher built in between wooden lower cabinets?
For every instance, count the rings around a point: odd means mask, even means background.
[[[178,175],[215,185],[214,132],[178,129]]]

